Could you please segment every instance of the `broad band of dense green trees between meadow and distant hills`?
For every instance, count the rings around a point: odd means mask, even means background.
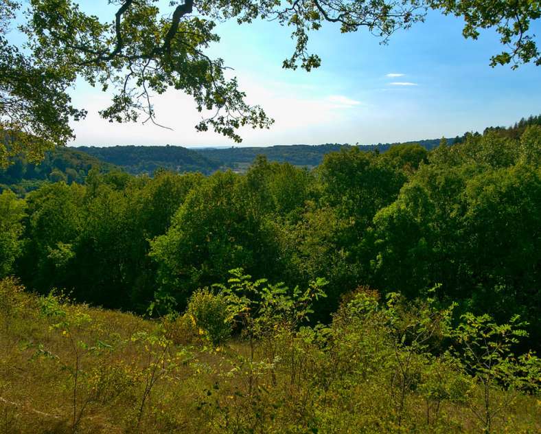
[[[540,328],[541,127],[387,152],[353,147],[314,170],[259,157],[245,174],[149,176],[91,170],[86,183],[0,196],[0,273],[91,304],[183,310],[242,267],[306,286],[324,278],[314,321],[358,286],[408,299],[437,286],[457,312]],[[537,344],[536,344],[537,345]]]

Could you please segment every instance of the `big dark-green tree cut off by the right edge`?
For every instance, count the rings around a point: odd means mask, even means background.
[[[516,165],[468,181],[463,216],[464,258],[478,311],[498,321],[520,314],[540,330],[541,172]],[[496,295],[496,297],[494,297]],[[534,337],[536,339],[536,337]]]

